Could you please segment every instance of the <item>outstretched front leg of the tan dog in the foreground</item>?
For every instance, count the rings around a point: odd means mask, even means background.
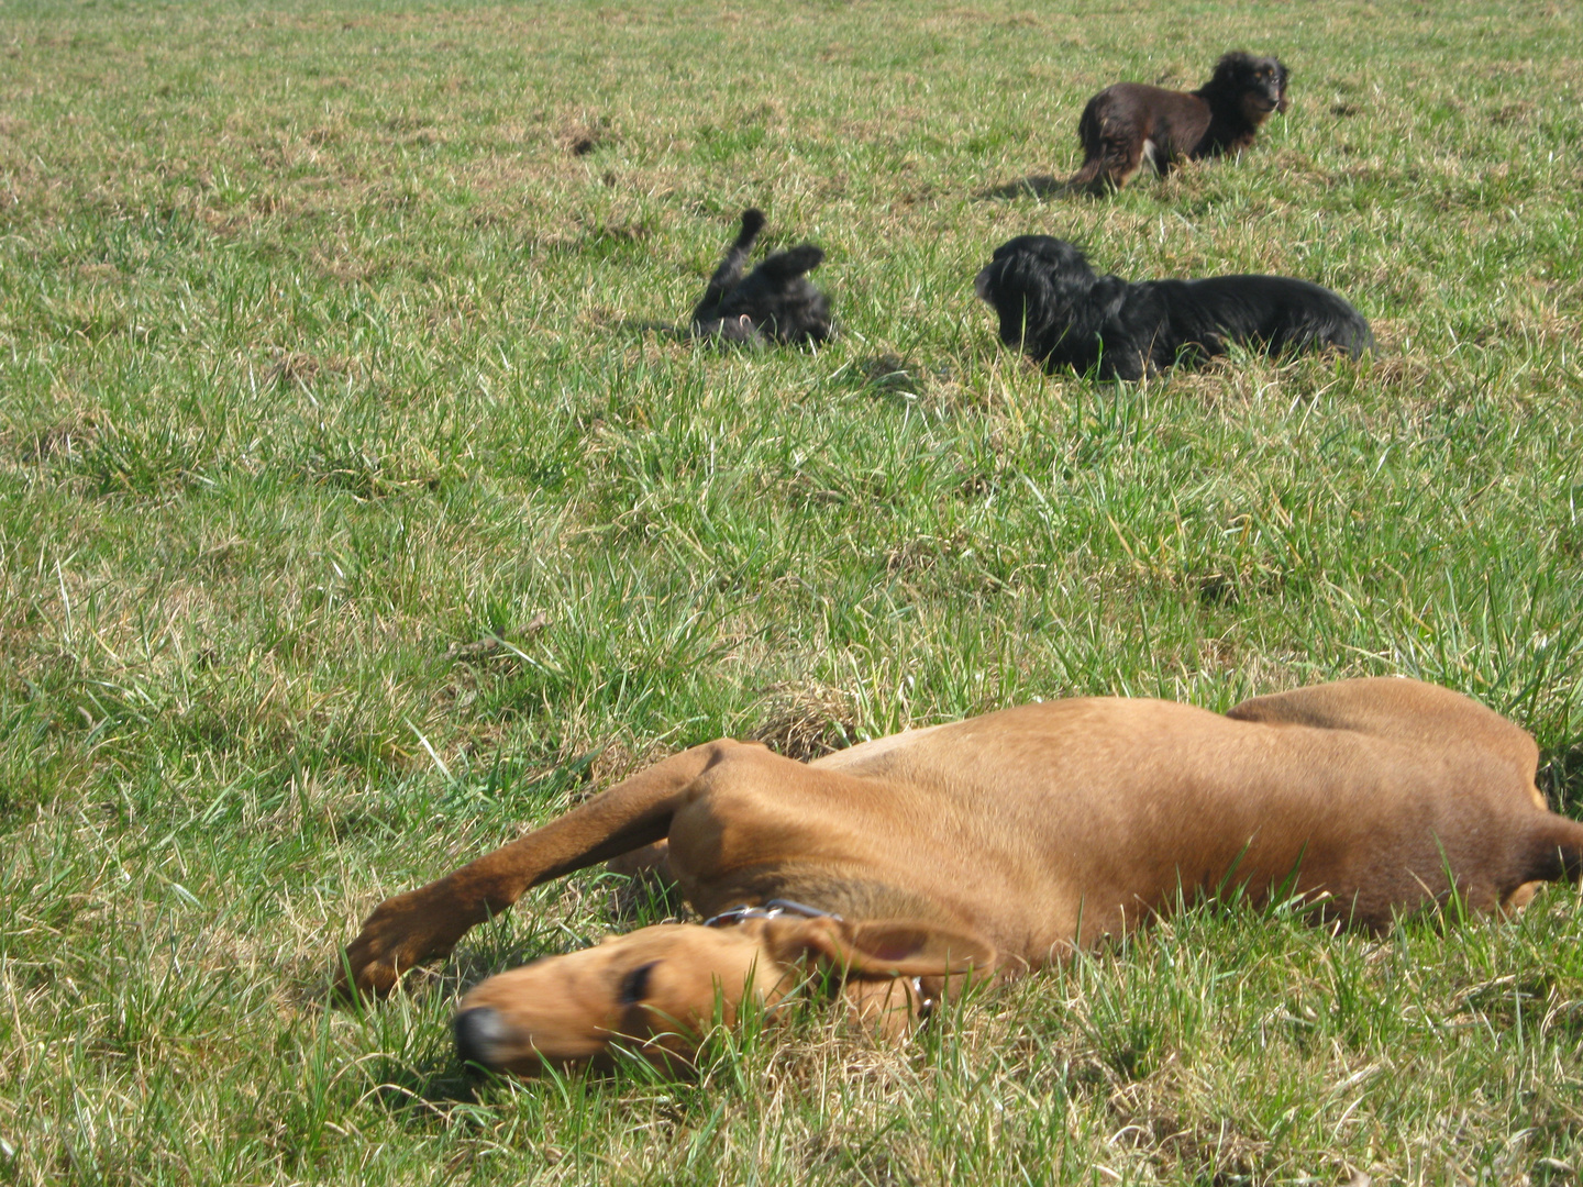
[[[521,840],[386,899],[347,945],[340,991],[388,994],[404,972],[446,956],[470,927],[507,910],[530,886],[663,839],[687,787],[739,745],[719,741],[673,755]]]

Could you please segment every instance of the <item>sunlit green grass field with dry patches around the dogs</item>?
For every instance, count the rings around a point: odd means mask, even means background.
[[[719,734],[1404,673],[1583,812],[1583,13],[1070,8],[0,5],[0,1181],[1578,1181],[1566,888],[1200,910],[685,1083],[451,1054],[469,983],[676,910],[611,875],[326,1008],[383,896]],[[975,196],[1232,47],[1293,71],[1243,160]],[[829,350],[643,328],[747,204],[829,253]],[[970,283],[1032,231],[1380,351],[1045,377]]]

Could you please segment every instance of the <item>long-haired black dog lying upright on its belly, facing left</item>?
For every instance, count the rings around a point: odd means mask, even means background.
[[[1000,244],[974,282],[1000,315],[1000,340],[1045,370],[1097,370],[1140,380],[1178,362],[1224,355],[1230,343],[1270,355],[1374,347],[1363,317],[1328,288],[1284,275],[1146,280],[1097,275],[1064,239],[1024,234]]]

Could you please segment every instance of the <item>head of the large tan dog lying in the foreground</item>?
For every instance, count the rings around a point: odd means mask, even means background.
[[[983,940],[912,921],[833,916],[746,920],[730,927],[659,924],[491,977],[456,1014],[464,1062],[530,1073],[545,1064],[608,1065],[624,1046],[682,1065],[719,1010],[774,1010],[828,970],[852,1014],[904,1033],[947,978],[986,975]]]

